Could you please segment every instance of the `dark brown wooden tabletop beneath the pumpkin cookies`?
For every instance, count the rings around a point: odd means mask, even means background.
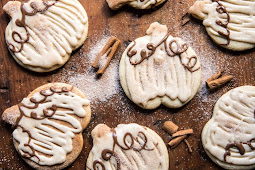
[[[93,118],[83,132],[84,147],[77,160],[69,169],[85,169],[86,159],[92,147],[91,130],[98,123],[115,127],[119,123],[139,123],[155,130],[167,143],[168,135],[154,125],[159,120],[172,120],[180,128],[193,128],[194,135],[189,137],[193,153],[188,153],[184,143],[170,150],[170,169],[220,169],[205,154],[201,144],[201,131],[212,115],[217,99],[228,90],[241,85],[255,85],[255,51],[231,52],[215,45],[206,34],[200,21],[191,19],[182,26],[181,18],[195,0],[167,0],[153,10],[134,10],[123,7],[111,11],[104,0],[80,0],[89,17],[89,34],[85,44],[75,51],[71,59],[60,69],[51,73],[33,73],[19,66],[7,50],[4,31],[9,22],[0,8],[0,113],[26,97],[30,91],[48,82],[63,81],[67,76],[83,73],[89,65],[77,65],[102,35],[115,35],[121,41],[121,47],[113,60],[119,61],[128,40],[143,36],[150,23],[158,21],[167,25],[173,36],[183,38],[197,52],[203,71],[203,81],[198,94],[180,109],[168,109],[164,106],[146,111],[138,108],[127,99],[120,90],[107,102],[92,102]],[[1,7],[7,0],[1,0]],[[234,79],[215,92],[206,89],[204,81],[219,69],[231,74]],[[71,74],[69,72],[72,72]],[[105,85],[107,88],[107,84]],[[12,143],[11,126],[1,120],[0,124],[0,169],[29,169],[16,152]]]

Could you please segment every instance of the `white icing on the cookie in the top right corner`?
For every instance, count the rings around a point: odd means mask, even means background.
[[[230,31],[230,40],[255,44],[255,1],[254,0],[219,0],[226,8],[230,21],[227,28]],[[207,32],[212,35],[225,38],[218,31],[227,34],[226,28],[216,24],[217,20],[227,21],[226,14],[220,14],[216,11],[219,6],[212,0],[197,1],[194,6],[202,5],[202,8],[195,8],[191,14],[203,20],[203,25]],[[192,8],[192,7],[191,7]],[[227,43],[227,39],[223,44]]]

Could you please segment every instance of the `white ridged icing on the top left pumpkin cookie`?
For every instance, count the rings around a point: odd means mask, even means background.
[[[44,7],[43,1],[30,0],[25,3],[28,11],[32,11],[30,7],[32,2],[38,7]],[[64,64],[72,50],[80,45],[82,36],[86,32],[87,15],[77,0],[51,0],[49,2],[56,3],[45,13],[26,16],[25,22],[30,38],[24,44],[23,50],[15,53],[18,60],[25,65],[51,68],[54,65]],[[12,16],[6,29],[6,41],[17,49],[20,48],[20,44],[12,39],[12,31],[17,31],[23,39],[27,37],[25,29],[15,24],[16,19],[21,19],[22,16],[20,5],[18,8],[18,12]]]

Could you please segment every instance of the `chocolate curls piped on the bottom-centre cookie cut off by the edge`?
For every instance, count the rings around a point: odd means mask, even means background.
[[[117,153],[114,152],[114,149],[115,149],[115,146],[116,146],[116,145],[119,146],[122,150],[131,150],[131,149],[133,149],[133,150],[136,151],[136,152],[140,152],[140,151],[142,151],[142,150],[152,151],[152,150],[155,149],[155,148],[151,148],[151,149],[146,148],[148,139],[147,139],[147,136],[146,136],[143,132],[141,132],[141,131],[138,132],[138,134],[137,134],[136,137],[134,137],[130,132],[125,133],[125,135],[124,135],[124,137],[123,137],[124,146],[122,146],[122,145],[119,144],[116,131],[115,131],[114,129],[111,129],[111,131],[112,131],[112,138],[113,138],[113,148],[112,148],[112,150],[110,150],[110,149],[104,149],[104,150],[102,151],[102,153],[101,153],[101,157],[102,157],[102,159],[105,160],[105,161],[110,161],[110,159],[111,159],[112,157],[114,157],[114,158],[116,159],[116,162],[117,162],[117,167],[116,167],[117,170],[120,170],[120,169],[121,169],[121,165],[120,165],[120,158],[118,157]],[[143,138],[143,140],[144,140],[144,143],[143,143],[143,144],[141,144],[141,143],[139,142],[139,140],[138,140],[138,137],[139,137],[139,136],[140,136],[141,138]],[[131,143],[130,143],[130,144],[127,143],[127,139],[128,139],[128,138],[131,140]],[[140,145],[139,148],[135,148],[135,147],[133,146],[134,143],[135,143],[135,141]],[[100,161],[100,160],[95,160],[95,161],[93,162],[93,169],[96,170],[98,166],[101,167],[102,170],[105,170],[105,165],[104,165],[104,163],[103,163],[102,161]]]

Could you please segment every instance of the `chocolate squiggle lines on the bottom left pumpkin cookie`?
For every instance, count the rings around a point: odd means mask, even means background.
[[[18,127],[20,127],[23,132],[28,134],[29,140],[28,140],[28,142],[26,144],[24,144],[24,146],[27,146],[27,147],[29,147],[32,150],[32,153],[28,153],[26,151],[23,151],[24,154],[21,154],[22,156],[24,156],[26,158],[36,157],[40,161],[40,159],[35,155],[35,149],[30,145],[31,138],[32,138],[31,134],[30,134],[30,131],[25,129],[21,125],[19,125],[19,121],[21,120],[21,118],[23,116],[29,117],[29,116],[25,115],[24,111],[22,110],[22,107],[25,107],[27,109],[36,109],[39,106],[40,103],[45,102],[47,100],[47,97],[52,96],[54,93],[67,93],[69,91],[72,91],[72,89],[73,89],[73,86],[72,86],[72,88],[70,90],[67,89],[66,87],[62,87],[61,89],[55,89],[52,86],[52,87],[50,87],[50,93],[47,93],[45,90],[40,91],[40,94],[42,96],[44,96],[43,99],[37,101],[34,97],[30,98],[30,102],[34,103],[34,106],[27,106],[27,105],[25,105],[23,103],[19,104],[19,110],[20,110],[21,114],[20,114],[20,117],[17,119],[16,125]],[[48,109],[44,109],[43,110],[44,117],[38,117],[37,113],[33,112],[33,111],[31,112],[30,117],[33,118],[33,119],[36,119],[36,120],[42,120],[42,119],[44,119],[46,117],[52,117],[55,114],[56,111],[57,111],[57,106],[56,105],[52,105]]]

